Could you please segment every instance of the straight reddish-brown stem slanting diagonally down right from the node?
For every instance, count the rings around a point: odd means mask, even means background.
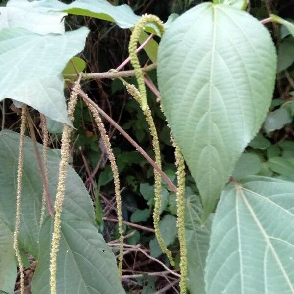
[[[95,102],[93,102],[84,91],[78,90],[78,94],[89,104],[91,104],[97,111],[109,122],[111,123],[122,135],[139,151],[145,159],[152,165],[152,167],[160,173],[161,177],[166,181],[172,191],[177,192],[176,186],[172,183],[170,178],[158,167],[158,165],[153,161],[153,159],[123,130],[123,128],[116,123],[111,117],[109,117]]]

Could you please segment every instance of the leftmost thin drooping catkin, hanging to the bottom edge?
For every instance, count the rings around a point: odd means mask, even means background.
[[[22,196],[22,179],[23,179],[23,164],[24,164],[24,138],[25,138],[25,122],[26,122],[26,111],[27,107],[22,104],[22,115],[21,115],[21,128],[20,128],[20,139],[19,139],[19,157],[18,157],[18,168],[17,168],[17,191],[16,191],[16,216],[15,216],[15,229],[13,248],[19,264],[20,271],[20,294],[24,294],[25,291],[25,274],[24,265],[21,258],[18,236],[21,226],[21,196]]]

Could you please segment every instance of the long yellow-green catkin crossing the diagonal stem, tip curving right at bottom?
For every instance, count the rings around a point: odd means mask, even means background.
[[[127,92],[134,97],[134,99],[141,105],[142,107],[142,96],[139,92],[139,90],[131,84],[126,83],[123,81],[123,84],[127,90]],[[143,113],[145,115],[146,121],[149,125],[150,134],[152,136],[152,147],[155,153],[155,162],[157,166],[161,169],[161,155],[160,155],[160,147],[159,147],[159,140],[157,135],[157,130],[155,127],[155,123],[152,118],[152,114],[150,111],[150,108],[147,104],[146,108],[143,109]],[[162,239],[160,229],[159,229],[159,220],[160,220],[160,206],[161,206],[161,194],[162,194],[162,188],[161,188],[161,175],[159,172],[157,172],[154,169],[154,210],[153,210],[153,222],[154,222],[154,230],[155,235],[158,240],[158,244],[164,252],[172,265],[174,265],[174,261],[172,258],[172,252],[164,245],[164,241]]]

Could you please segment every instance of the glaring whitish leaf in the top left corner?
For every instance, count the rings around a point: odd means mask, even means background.
[[[57,0],[24,1],[10,0],[6,7],[0,7],[0,30],[8,27],[22,27],[28,31],[46,35],[64,34],[64,16],[66,13],[50,13]]]

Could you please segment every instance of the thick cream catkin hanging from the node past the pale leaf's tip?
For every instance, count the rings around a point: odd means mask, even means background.
[[[72,89],[70,100],[68,103],[68,116],[71,121],[74,120],[74,109],[77,102],[77,91],[80,89],[79,82],[75,82]],[[57,252],[60,243],[60,233],[61,233],[61,212],[62,204],[65,194],[65,182],[67,175],[67,168],[70,156],[70,143],[71,143],[71,131],[72,127],[64,124],[61,139],[61,160],[59,164],[59,176],[57,193],[54,204],[54,230],[51,241],[51,253],[50,253],[50,289],[51,294],[56,294],[56,272],[57,272]]]

